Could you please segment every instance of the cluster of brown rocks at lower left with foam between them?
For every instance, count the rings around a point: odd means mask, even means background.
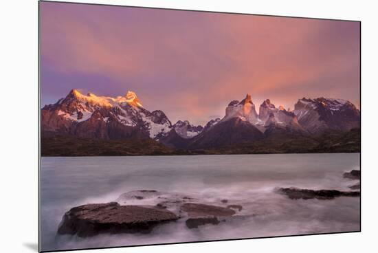
[[[135,201],[141,204],[128,204]],[[240,205],[223,207],[192,201],[195,199],[177,193],[134,190],[120,195],[117,202],[90,203],[71,208],[63,215],[58,234],[88,237],[102,233],[148,233],[156,225],[178,219],[185,219],[188,228],[198,228],[225,221],[226,217],[236,214],[235,208],[242,208]]]

